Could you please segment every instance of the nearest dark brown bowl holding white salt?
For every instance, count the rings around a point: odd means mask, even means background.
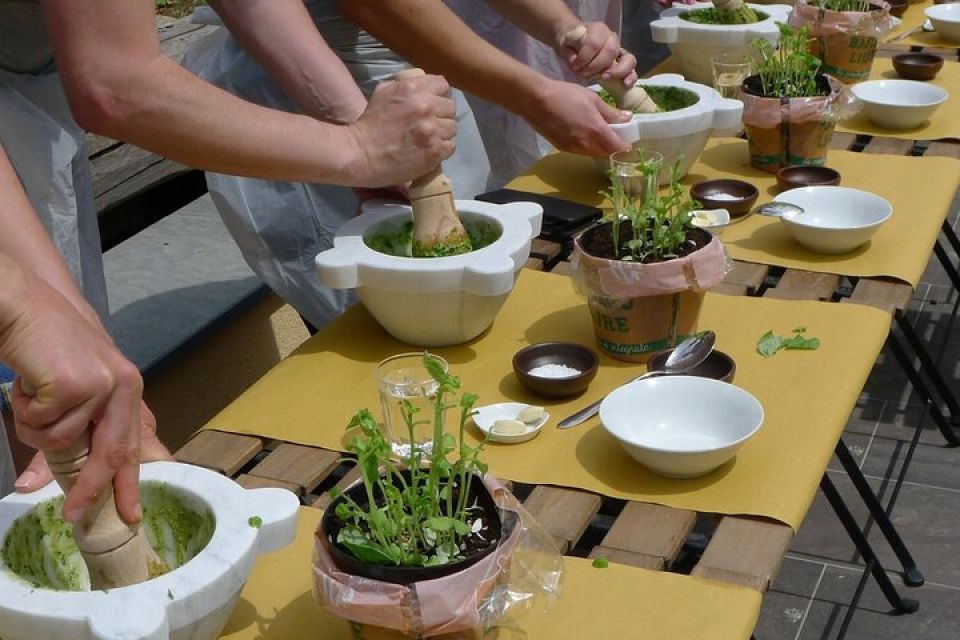
[[[535,375],[540,367],[564,365],[579,373],[563,377]],[[513,356],[513,371],[531,393],[546,398],[566,398],[586,390],[597,375],[600,359],[597,354],[573,342],[538,342],[524,347]]]

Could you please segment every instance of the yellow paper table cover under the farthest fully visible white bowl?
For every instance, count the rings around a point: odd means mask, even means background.
[[[893,69],[893,60],[877,58],[873,61],[870,70],[871,80],[898,80],[902,79]],[[943,69],[937,77],[930,80],[933,84],[946,89],[950,96],[947,101],[937,107],[936,112],[924,125],[914,129],[886,129],[880,127],[861,111],[848,120],[837,123],[837,131],[843,133],[859,133],[887,138],[904,140],[938,140],[940,138],[960,138],[960,62],[944,62]]]

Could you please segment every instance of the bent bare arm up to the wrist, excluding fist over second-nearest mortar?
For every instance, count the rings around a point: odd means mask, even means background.
[[[44,0],[71,110],[85,128],[208,171],[359,184],[346,127],[259,107],[162,55],[153,4]]]

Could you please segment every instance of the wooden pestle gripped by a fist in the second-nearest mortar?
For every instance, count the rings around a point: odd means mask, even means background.
[[[417,78],[423,69],[404,69],[394,78]],[[438,166],[416,178],[409,189],[413,207],[413,255],[440,256],[466,253],[470,239],[453,200],[453,185]]]

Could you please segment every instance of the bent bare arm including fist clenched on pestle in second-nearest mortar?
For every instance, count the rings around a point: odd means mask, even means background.
[[[84,128],[220,173],[385,186],[453,152],[455,108],[428,76],[387,83],[355,124],[246,102],[165,57],[148,0],[43,0],[71,111]]]

